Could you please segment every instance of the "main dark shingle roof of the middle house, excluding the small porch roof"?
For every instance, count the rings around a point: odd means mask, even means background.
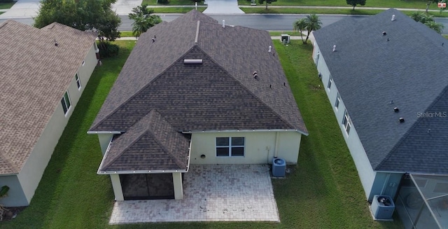
[[[223,28],[190,11],[140,37],[90,130],[126,131],[148,110],[158,109],[177,130],[307,134],[275,53],[267,32]],[[204,63],[187,66],[185,58]]]

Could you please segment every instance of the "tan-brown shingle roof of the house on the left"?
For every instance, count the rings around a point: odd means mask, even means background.
[[[20,172],[95,39],[58,23],[0,24],[0,174]]]

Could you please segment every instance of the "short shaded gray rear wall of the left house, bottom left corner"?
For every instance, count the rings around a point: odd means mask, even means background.
[[[0,199],[0,204],[6,207],[27,206],[28,201],[23,193],[22,186],[20,186],[17,175],[0,176],[0,188],[8,186],[8,196]]]

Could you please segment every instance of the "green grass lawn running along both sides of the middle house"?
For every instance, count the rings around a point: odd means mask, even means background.
[[[272,180],[281,223],[214,222],[109,225],[113,191],[97,175],[102,153],[86,134],[135,41],[116,41],[120,54],[95,69],[55,148],[29,207],[1,228],[402,228],[373,221],[342,133],[311,60],[312,46],[274,41],[309,136],[287,179]],[[320,86],[319,86],[320,85]]]

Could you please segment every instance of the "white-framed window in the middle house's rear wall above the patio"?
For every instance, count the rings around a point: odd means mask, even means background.
[[[217,157],[244,157],[244,137],[216,137]]]

